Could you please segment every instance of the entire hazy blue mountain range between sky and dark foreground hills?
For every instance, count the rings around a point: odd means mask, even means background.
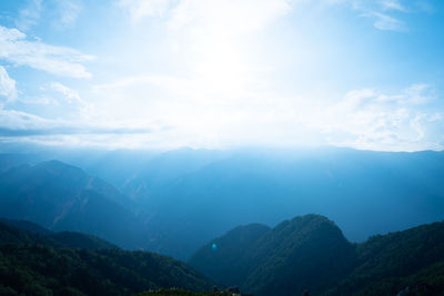
[[[0,166],[1,216],[183,261],[236,225],[306,213],[351,242],[444,218],[443,152],[59,150]]]

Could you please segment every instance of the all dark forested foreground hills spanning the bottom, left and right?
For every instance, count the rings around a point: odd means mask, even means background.
[[[0,223],[0,295],[232,295],[203,292],[214,282],[167,256],[37,231]],[[274,228],[236,227],[189,263],[255,296],[444,295],[444,222],[352,244],[333,222],[306,215]]]

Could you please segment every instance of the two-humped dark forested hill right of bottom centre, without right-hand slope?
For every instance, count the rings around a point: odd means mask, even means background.
[[[212,241],[190,265],[254,295],[301,295],[306,288],[319,292],[335,283],[355,264],[353,245],[325,217],[305,215],[244,234],[253,229],[238,227]],[[213,243],[216,251],[210,251]]]

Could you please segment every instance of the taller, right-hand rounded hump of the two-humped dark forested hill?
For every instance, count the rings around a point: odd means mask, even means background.
[[[319,293],[355,264],[355,251],[333,222],[305,215],[279,224],[258,241],[241,288],[254,295]]]

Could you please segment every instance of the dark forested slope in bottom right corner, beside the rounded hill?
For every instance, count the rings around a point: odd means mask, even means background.
[[[359,266],[329,295],[442,295],[444,223],[376,235],[356,246]],[[415,292],[418,289],[418,292]]]

